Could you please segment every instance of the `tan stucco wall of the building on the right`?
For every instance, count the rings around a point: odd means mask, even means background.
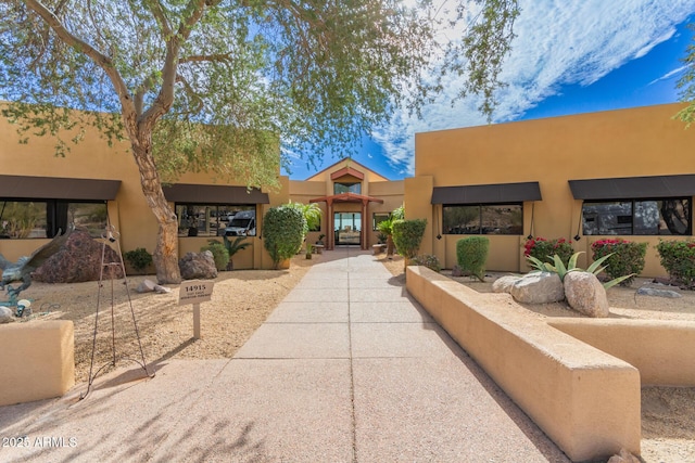
[[[417,133],[415,178],[431,178],[432,187],[538,181],[543,201],[535,202],[533,235],[570,239],[578,230],[582,202],[572,197],[568,180],[695,172],[691,162],[695,130],[685,130],[672,118],[680,107],[668,104]],[[431,197],[431,189],[414,193],[408,191],[410,184],[406,184],[406,202],[417,195]],[[530,233],[531,203],[523,206],[526,236]],[[441,206],[438,209],[441,217]],[[415,214],[430,215],[424,210]],[[518,243],[488,236],[491,252],[500,248],[495,253],[509,256],[502,261],[491,256],[490,270],[525,270],[523,259],[515,262]],[[574,247],[591,255],[589,245],[598,237],[583,236]],[[649,243],[643,275],[665,274],[654,248],[657,236],[624,237]],[[440,259],[451,268],[453,241],[446,240],[443,248],[434,242],[424,247],[438,249]]]

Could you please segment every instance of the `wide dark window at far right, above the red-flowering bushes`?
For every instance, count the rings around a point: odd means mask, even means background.
[[[584,202],[585,235],[690,235],[692,201],[628,200]]]

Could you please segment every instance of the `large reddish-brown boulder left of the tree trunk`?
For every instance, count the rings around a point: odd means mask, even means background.
[[[101,274],[101,254],[104,263],[117,265],[104,268],[103,279],[123,279],[121,258],[111,246],[91,237],[85,230],[71,233],[65,245],[31,274],[31,280],[43,283],[80,283],[98,281]]]

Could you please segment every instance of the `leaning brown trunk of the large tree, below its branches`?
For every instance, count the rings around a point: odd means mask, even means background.
[[[132,143],[132,155],[140,171],[142,193],[159,223],[156,247],[152,255],[157,283],[178,284],[181,282],[178,267],[178,221],[162,191],[162,182],[152,156],[151,136],[140,133],[138,143]]]

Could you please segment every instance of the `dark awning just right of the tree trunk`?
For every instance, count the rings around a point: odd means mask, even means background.
[[[257,188],[176,183],[163,190],[164,196],[174,203],[270,204],[268,193]]]

